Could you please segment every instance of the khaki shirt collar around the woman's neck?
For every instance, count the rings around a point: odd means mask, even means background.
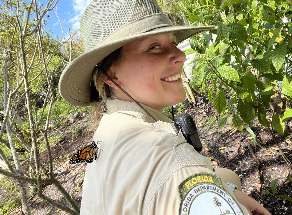
[[[163,113],[153,108],[150,108],[142,103],[139,104],[142,105],[142,107],[145,108],[157,121],[163,121],[166,123],[172,122],[172,120],[165,116]],[[108,114],[111,114],[113,112],[120,112],[125,113],[130,117],[143,119],[148,123],[155,123],[154,119],[152,119],[152,117],[149,116],[148,113],[146,113],[139,105],[134,102],[124,101],[120,99],[111,99],[107,100],[106,106],[108,109]]]

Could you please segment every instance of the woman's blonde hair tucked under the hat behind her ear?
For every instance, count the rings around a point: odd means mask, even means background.
[[[108,72],[111,66],[116,65],[121,60],[121,49],[116,49],[99,63],[105,72]],[[94,105],[92,113],[94,119],[92,129],[94,130],[97,129],[102,116],[107,112],[106,101],[116,99],[117,96],[114,94],[114,88],[105,84],[105,75],[98,68],[93,70],[92,80],[94,87],[90,99]]]

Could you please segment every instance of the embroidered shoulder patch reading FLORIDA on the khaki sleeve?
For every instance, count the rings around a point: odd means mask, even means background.
[[[221,178],[212,173],[190,175],[179,185],[180,215],[243,215],[235,199],[223,188]]]

